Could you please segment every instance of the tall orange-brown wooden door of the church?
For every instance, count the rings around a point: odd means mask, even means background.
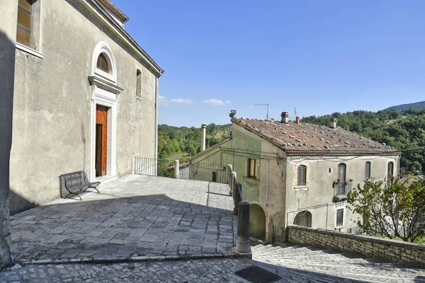
[[[96,177],[106,175],[108,108],[96,105]]]

